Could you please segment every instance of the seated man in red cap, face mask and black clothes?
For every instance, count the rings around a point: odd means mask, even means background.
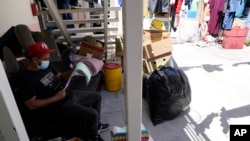
[[[79,138],[86,134],[91,141],[103,141],[99,132],[108,129],[100,122],[101,95],[97,92],[64,90],[62,80],[70,73],[56,73],[49,65],[50,50],[44,42],[28,46],[29,63],[20,75],[22,81],[19,99],[25,122],[42,119],[81,125]]]

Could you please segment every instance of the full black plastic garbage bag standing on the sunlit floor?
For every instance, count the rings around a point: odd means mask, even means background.
[[[188,77],[181,69],[160,66],[150,75],[147,83],[147,103],[154,126],[174,119],[189,109],[191,88]]]

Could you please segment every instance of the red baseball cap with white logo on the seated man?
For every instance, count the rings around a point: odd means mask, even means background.
[[[49,49],[46,43],[37,42],[32,43],[28,46],[27,54],[30,57],[41,56],[55,51],[54,49]]]

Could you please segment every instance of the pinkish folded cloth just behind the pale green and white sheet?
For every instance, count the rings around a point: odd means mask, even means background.
[[[83,58],[82,62],[89,68],[89,71],[92,76],[95,76],[98,74],[98,72],[103,67],[103,61],[96,58]]]

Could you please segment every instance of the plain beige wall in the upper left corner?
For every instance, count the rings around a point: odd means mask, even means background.
[[[11,26],[26,24],[40,30],[36,16],[32,16],[31,0],[0,0],[0,36]]]

